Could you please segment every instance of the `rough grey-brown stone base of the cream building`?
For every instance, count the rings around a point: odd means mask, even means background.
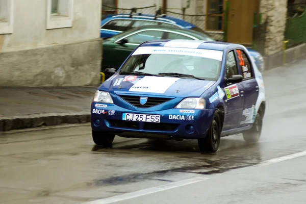
[[[0,53],[0,86],[98,85],[102,40]]]

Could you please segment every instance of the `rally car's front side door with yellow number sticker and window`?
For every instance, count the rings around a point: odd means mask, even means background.
[[[225,77],[228,79],[232,75],[239,74],[238,63],[234,50],[228,52],[226,56],[226,70]],[[241,112],[244,104],[244,96],[242,82],[240,83],[228,83],[222,87],[225,96],[225,117],[223,124],[223,131],[232,130],[238,127]]]

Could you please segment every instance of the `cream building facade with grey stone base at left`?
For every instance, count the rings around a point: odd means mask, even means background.
[[[99,83],[101,0],[0,0],[0,86]]]

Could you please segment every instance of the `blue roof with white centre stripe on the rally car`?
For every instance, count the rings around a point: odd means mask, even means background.
[[[213,49],[223,51],[232,43],[204,41],[204,40],[151,40],[142,43],[140,46],[157,46],[157,47],[178,47],[178,48],[197,48]],[[240,46],[237,44],[237,46]]]

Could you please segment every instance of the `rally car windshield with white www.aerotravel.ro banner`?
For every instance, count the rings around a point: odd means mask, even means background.
[[[203,80],[216,81],[220,74],[222,55],[223,52],[219,50],[144,46],[135,50],[120,73],[139,71],[172,74],[175,77],[180,77],[177,74],[189,74]]]

